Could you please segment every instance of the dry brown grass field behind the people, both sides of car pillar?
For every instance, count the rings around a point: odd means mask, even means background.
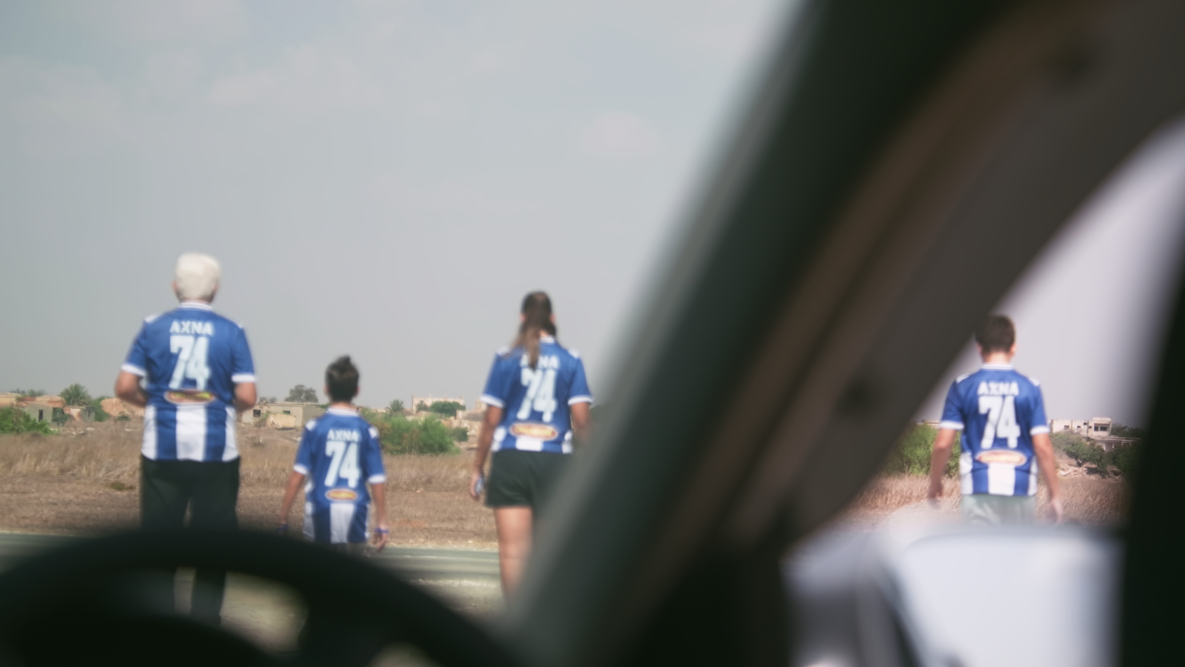
[[[297,431],[244,427],[239,521],[270,529],[296,452]],[[140,425],[108,421],[79,434],[0,436],[0,531],[102,534],[135,527],[139,515]],[[396,545],[493,548],[493,516],[466,494],[472,453],[389,456],[389,520]],[[1123,482],[1094,476],[1062,479],[1068,519],[1119,523],[1127,513]],[[922,477],[879,477],[840,522],[870,527],[925,500]],[[1043,509],[1048,494],[1038,496]],[[944,509],[957,509],[957,484],[947,482]],[[293,529],[302,522],[296,504]]]

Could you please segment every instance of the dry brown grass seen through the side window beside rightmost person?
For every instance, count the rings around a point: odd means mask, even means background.
[[[1059,481],[1065,519],[1090,525],[1119,525],[1127,517],[1128,487],[1119,479],[1070,477]],[[893,512],[925,500],[929,481],[925,477],[877,477],[848,504],[839,521],[854,526],[871,526]],[[940,508],[959,510],[959,484],[947,479]],[[1037,512],[1044,515],[1049,490],[1042,484],[1037,491]]]

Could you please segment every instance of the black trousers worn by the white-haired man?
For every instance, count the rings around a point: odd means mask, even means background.
[[[185,528],[233,531],[238,527],[238,462],[152,460],[140,457],[140,526],[145,531],[167,532]],[[172,610],[173,576],[158,590],[158,604]],[[193,574],[191,615],[219,624],[225,570],[198,570]]]

